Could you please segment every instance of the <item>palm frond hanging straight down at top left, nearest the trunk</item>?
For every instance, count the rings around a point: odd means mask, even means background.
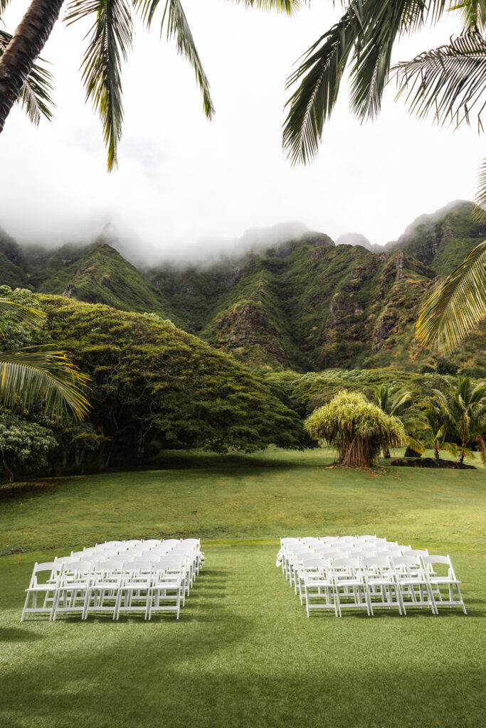
[[[69,24],[95,16],[85,55],[82,81],[86,100],[93,103],[103,124],[108,151],[108,170],[117,166],[117,148],[122,136],[122,62],[132,46],[132,17],[127,0],[71,0]]]

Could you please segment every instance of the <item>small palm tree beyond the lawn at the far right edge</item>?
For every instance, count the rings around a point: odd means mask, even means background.
[[[447,432],[452,432],[460,446],[455,443],[443,443],[444,449],[457,454],[457,462],[463,463],[464,456],[471,454],[470,443],[479,447],[481,459],[486,467],[486,443],[483,434],[486,431],[486,384],[474,385],[469,376],[458,376],[457,387],[450,385],[447,393],[434,389],[446,421]]]

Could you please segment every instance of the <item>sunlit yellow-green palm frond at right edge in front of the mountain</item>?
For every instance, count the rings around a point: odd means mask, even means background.
[[[486,241],[429,296],[415,324],[423,347],[449,353],[486,317]]]

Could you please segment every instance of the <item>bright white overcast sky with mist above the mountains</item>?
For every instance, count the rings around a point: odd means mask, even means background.
[[[195,245],[228,248],[224,240],[250,227],[299,221],[334,240],[361,232],[384,244],[421,213],[474,197],[484,139],[474,127],[439,130],[409,116],[392,87],[380,118],[363,126],[343,89],[317,161],[286,160],[286,77],[340,4],[313,0],[292,19],[227,0],[183,4],[216,116],[205,119],[192,70],[156,23],[150,35],[137,28],[123,76],[119,169],[110,175],[101,123],[84,105],[82,28],[55,26],[42,54],[55,74],[54,122],[36,129],[15,109],[0,135],[0,226],[19,242],[90,240],[111,223],[147,255],[191,256]],[[16,0],[4,15],[9,31],[27,5]],[[402,41],[395,60],[458,31],[458,18],[448,17]]]

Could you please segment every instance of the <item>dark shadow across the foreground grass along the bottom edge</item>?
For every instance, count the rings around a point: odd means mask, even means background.
[[[278,661],[232,662],[227,648],[243,625],[225,628],[218,645],[173,632],[137,644],[98,646],[71,657],[41,657],[3,680],[9,726],[103,728],[417,728],[484,724],[484,670],[457,663],[367,666],[317,657],[305,673]],[[214,662],[215,652],[222,659]],[[226,651],[226,659],[223,655]],[[264,656],[262,656],[264,663]],[[455,665],[455,668],[454,668]],[[121,669],[120,669],[121,668]],[[451,681],[453,674],[453,681]],[[444,700],[444,686],[447,696]],[[0,712],[1,721],[1,712]],[[7,725],[7,723],[4,723]]]

